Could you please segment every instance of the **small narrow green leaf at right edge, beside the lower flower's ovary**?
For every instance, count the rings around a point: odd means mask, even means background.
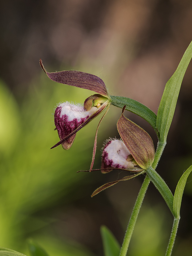
[[[176,218],[180,217],[180,207],[181,207],[183,191],[185,188],[185,184],[187,182],[187,178],[191,171],[192,171],[192,165],[183,173],[175,189],[175,194],[173,197],[173,213]]]

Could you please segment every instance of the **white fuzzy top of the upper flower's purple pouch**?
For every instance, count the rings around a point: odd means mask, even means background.
[[[69,101],[61,103],[58,107],[61,107],[60,117],[66,115],[68,116],[68,121],[76,118],[78,122],[80,122],[81,118],[91,116],[97,110],[96,107],[92,107],[89,111],[86,111],[82,104],[73,104]]]

